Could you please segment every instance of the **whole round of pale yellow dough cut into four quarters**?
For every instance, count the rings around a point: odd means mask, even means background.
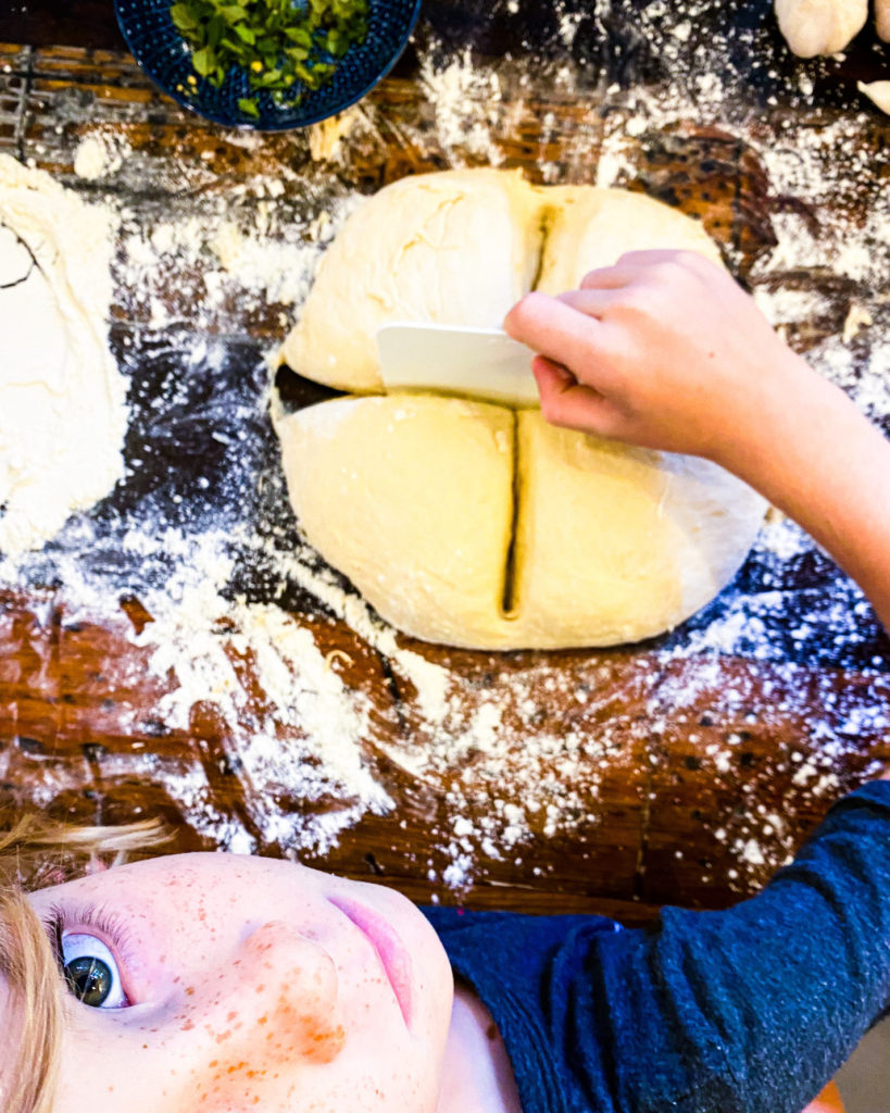
[[[477,179],[483,216],[458,220],[474,206]],[[384,321],[497,325],[535,276],[555,293],[629,249],[698,249],[719,259],[694,220],[636,194],[534,187],[493,170],[397,186],[347,220],[323,262],[283,351],[308,377],[379,391],[374,331]],[[491,224],[492,249],[484,238],[458,245],[443,213],[461,227]],[[408,245],[402,255],[395,223]],[[364,237],[372,248],[389,245],[367,272]],[[438,255],[436,244],[448,249]],[[412,252],[419,254],[402,272]],[[421,256],[434,294],[416,287]],[[462,280],[487,290],[484,319],[482,295],[459,305],[442,297]],[[557,430],[535,408],[395,393],[293,414],[277,404],[275,422],[309,542],[387,621],[451,646],[558,649],[661,633],[732,579],[765,508],[715,464]]]

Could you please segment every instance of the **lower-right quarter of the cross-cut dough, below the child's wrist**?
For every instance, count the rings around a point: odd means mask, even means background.
[[[739,570],[765,504],[709,461],[517,414],[515,644],[613,646],[671,629]]]

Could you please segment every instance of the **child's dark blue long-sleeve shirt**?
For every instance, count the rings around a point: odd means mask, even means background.
[[[501,1030],[523,1113],[800,1113],[890,1004],[890,782],[726,912],[633,930],[424,912]]]

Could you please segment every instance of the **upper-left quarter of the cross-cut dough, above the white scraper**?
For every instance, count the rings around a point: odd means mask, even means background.
[[[531,288],[540,240],[541,200],[517,171],[402,178],[344,224],[281,357],[317,383],[379,391],[380,325],[500,325]]]

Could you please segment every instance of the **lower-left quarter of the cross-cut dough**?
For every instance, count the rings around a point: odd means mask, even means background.
[[[335,398],[277,432],[294,510],[325,560],[400,630],[492,643],[513,519],[512,411],[432,395]]]

